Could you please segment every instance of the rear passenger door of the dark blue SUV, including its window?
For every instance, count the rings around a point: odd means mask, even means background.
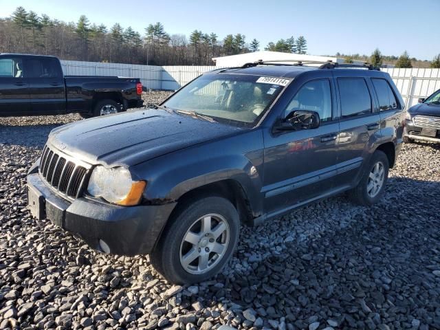
[[[357,75],[355,71],[359,71]],[[373,87],[363,70],[333,70],[338,86],[340,133],[338,184],[353,185],[368,161],[373,144],[380,140],[380,115],[375,107]]]

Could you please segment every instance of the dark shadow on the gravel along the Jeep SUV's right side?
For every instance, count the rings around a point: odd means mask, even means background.
[[[432,202],[438,191],[439,181],[391,177],[380,203],[371,208],[351,206],[360,212],[350,212],[343,196],[292,212],[333,203],[347,219],[327,219],[307,239],[294,236],[293,241],[274,242],[272,253],[261,261],[249,263],[245,252],[249,246],[239,246],[235,261],[250,267],[237,268],[233,261],[215,281],[224,287],[206,303],[225,297],[241,306],[236,309],[263,308],[272,313],[266,318],[284,317],[300,329],[307,328],[314,316],[321,324],[336,320],[338,329],[363,329],[369,318],[386,324],[390,309],[401,319],[424,309],[426,319],[421,323],[430,325],[440,292],[438,279],[427,267],[439,260],[439,208]],[[276,221],[285,223],[285,231],[294,222],[290,214]],[[303,218],[295,225],[302,221],[314,219]],[[275,225],[265,227],[259,235],[242,234],[240,241],[270,240],[272,236],[263,233],[274,232]],[[417,298],[421,296],[423,302]]]

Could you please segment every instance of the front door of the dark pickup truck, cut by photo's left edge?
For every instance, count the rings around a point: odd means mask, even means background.
[[[28,78],[20,56],[0,57],[0,115],[26,115],[30,111]]]

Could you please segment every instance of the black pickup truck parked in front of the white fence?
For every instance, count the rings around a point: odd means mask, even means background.
[[[142,107],[138,78],[63,76],[54,56],[0,54],[0,117],[80,113],[83,118]]]

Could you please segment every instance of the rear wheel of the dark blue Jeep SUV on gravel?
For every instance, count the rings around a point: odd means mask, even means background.
[[[351,200],[364,206],[377,203],[384,194],[388,169],[388,157],[383,151],[376,150],[358,186],[350,190]]]

